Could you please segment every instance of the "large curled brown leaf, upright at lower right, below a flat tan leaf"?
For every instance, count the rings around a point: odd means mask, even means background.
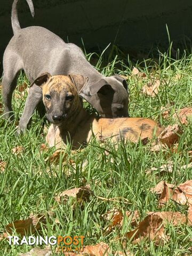
[[[149,238],[155,244],[159,244],[162,239],[166,241],[163,220],[158,215],[148,215],[139,223],[138,228],[126,233],[125,237],[132,238],[134,244],[140,243],[144,238]]]

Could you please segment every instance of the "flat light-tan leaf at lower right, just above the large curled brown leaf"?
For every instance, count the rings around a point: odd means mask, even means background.
[[[173,226],[178,226],[180,224],[188,224],[189,226],[192,225],[190,219],[186,217],[185,214],[180,212],[148,212],[147,214],[155,214],[158,215],[163,220],[163,224],[166,226],[167,223],[172,223]]]

